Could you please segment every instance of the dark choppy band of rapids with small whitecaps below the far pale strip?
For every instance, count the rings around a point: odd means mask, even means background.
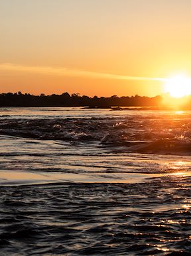
[[[1,119],[0,135],[97,142],[124,152],[189,154],[191,119],[166,116],[65,119]],[[123,149],[122,149],[123,147]]]

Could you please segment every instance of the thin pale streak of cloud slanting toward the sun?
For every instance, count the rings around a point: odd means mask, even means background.
[[[105,74],[101,72],[93,72],[86,70],[73,70],[68,68],[57,68],[50,66],[23,66],[19,64],[3,63],[0,64],[0,71],[5,72],[17,72],[17,73],[31,73],[31,74],[42,74],[42,75],[54,75],[54,76],[77,76],[77,77],[89,77],[89,78],[102,78],[109,80],[158,80],[164,81],[164,78],[149,78],[141,76],[121,76],[118,74]]]

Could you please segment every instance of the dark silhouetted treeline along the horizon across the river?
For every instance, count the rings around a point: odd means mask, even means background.
[[[117,97],[88,97],[80,96],[80,94],[63,94],[57,95],[44,95],[34,96],[32,94],[22,94],[21,92],[15,93],[2,93],[0,94],[0,107],[84,107],[84,108],[111,108],[113,110],[129,109],[128,107],[142,107],[147,109],[152,107],[155,109],[166,109],[162,104],[162,96],[147,97],[147,96],[123,96]],[[191,96],[186,97],[186,103],[181,106],[182,109],[191,109]]]

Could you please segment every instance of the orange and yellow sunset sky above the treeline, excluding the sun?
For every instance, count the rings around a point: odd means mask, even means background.
[[[191,76],[190,0],[0,0],[0,92],[156,96]]]

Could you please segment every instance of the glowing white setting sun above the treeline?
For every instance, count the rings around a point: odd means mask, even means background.
[[[184,75],[167,78],[164,83],[164,92],[171,97],[184,97],[191,95],[191,79]]]

